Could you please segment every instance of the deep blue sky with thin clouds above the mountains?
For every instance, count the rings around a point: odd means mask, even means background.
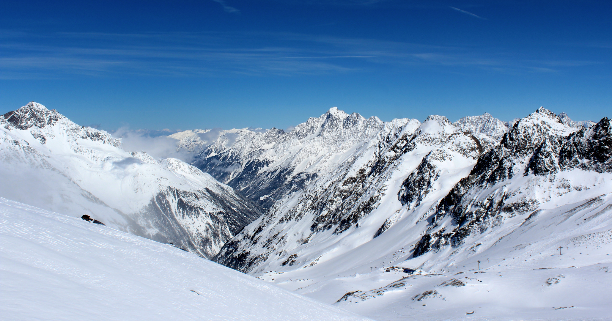
[[[612,1],[5,1],[0,112],[105,130],[612,116]]]

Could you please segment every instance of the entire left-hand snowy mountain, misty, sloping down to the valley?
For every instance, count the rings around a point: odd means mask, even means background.
[[[261,212],[175,158],[122,149],[37,103],[0,117],[0,196],[210,257]]]

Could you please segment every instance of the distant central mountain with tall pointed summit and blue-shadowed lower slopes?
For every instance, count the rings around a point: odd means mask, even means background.
[[[398,119],[394,124],[409,121]],[[327,174],[340,161],[337,155],[372,138],[384,124],[377,117],[365,119],[334,107],[290,132],[277,128],[224,131],[196,156],[193,165],[269,208]],[[184,144],[180,141],[179,148]]]

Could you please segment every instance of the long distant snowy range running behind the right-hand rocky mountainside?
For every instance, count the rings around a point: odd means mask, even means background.
[[[572,128],[587,123],[573,122],[566,114],[561,116],[565,122],[571,122],[568,124]],[[463,117],[454,124],[450,124],[446,117],[435,117],[441,121],[445,119],[444,126],[453,127],[450,131],[471,133],[485,150],[498,144],[510,130],[508,122],[495,119],[488,113]],[[392,128],[409,125],[414,129],[419,124],[416,119],[394,119],[391,122],[382,122],[377,117],[365,119],[357,113],[348,114],[334,107],[288,133],[277,128],[242,128],[191,130],[170,137],[177,139],[179,150],[194,155],[194,166],[269,208],[283,196],[304,188],[316,177],[334,171],[341,153],[376,142],[394,130]],[[436,124],[435,127],[442,123]],[[427,135],[436,131],[433,128],[422,130],[427,133],[431,130]],[[427,139],[427,135],[420,136],[420,139]]]

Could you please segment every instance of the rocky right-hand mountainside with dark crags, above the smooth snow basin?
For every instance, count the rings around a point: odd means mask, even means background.
[[[259,275],[349,260],[391,264],[463,246],[551,200],[575,202],[569,195],[588,187],[571,171],[610,164],[606,126],[569,126],[544,108],[512,128],[488,114],[385,124],[274,202],[214,259]]]

